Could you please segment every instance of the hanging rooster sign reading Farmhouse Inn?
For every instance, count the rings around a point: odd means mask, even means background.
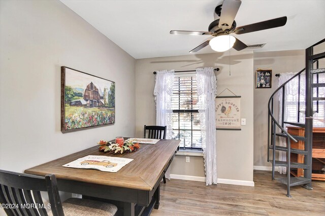
[[[220,96],[215,99],[216,129],[241,130],[240,96]]]

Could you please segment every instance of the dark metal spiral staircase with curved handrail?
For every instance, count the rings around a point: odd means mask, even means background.
[[[291,197],[290,195],[290,187],[302,185],[304,188],[311,190],[312,182],[311,182],[311,165],[312,165],[312,131],[313,131],[313,101],[325,100],[325,98],[318,97],[318,88],[325,87],[325,83],[313,83],[313,77],[317,76],[319,73],[325,73],[325,68],[318,68],[318,61],[322,58],[325,58],[325,52],[319,54],[313,54],[313,48],[317,45],[325,42],[325,39],[317,42],[315,45],[306,49],[306,68],[302,69],[295,76],[291,77],[289,80],[284,82],[270,97],[268,103],[268,161],[272,163],[272,180],[277,180],[282,184],[285,184],[287,187],[287,197]],[[314,63],[316,63],[316,68],[314,69]],[[305,110],[305,123],[299,122],[299,117],[297,122],[286,122],[284,121],[284,109],[282,106],[282,119],[281,123],[277,121],[274,117],[274,97],[278,92],[282,91],[282,104],[284,104],[285,97],[285,85],[298,76],[299,80],[303,71],[306,71],[304,75],[306,75],[306,110]],[[318,78],[317,78],[318,80]],[[317,88],[317,95],[313,97],[313,89]],[[298,94],[300,93],[300,82],[298,87]],[[300,96],[298,96],[299,100]],[[318,106],[318,103],[317,103]],[[300,101],[298,101],[298,110],[300,110]],[[318,109],[317,109],[318,110]],[[287,133],[284,128],[284,124],[294,125],[298,127],[305,128],[305,136],[293,136]],[[276,145],[276,138],[284,137],[287,140],[287,146],[279,146]],[[291,142],[304,141],[305,149],[293,149],[290,147]],[[287,153],[286,161],[279,161],[276,159],[276,151],[284,151]],[[270,153],[272,157],[270,158]],[[304,155],[304,163],[297,162],[288,162],[290,161],[290,153],[302,154]],[[286,167],[287,174],[285,178],[274,178],[275,166],[284,166]],[[291,168],[302,168],[304,169],[304,177],[291,177],[290,169]]]

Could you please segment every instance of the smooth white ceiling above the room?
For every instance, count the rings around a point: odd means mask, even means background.
[[[189,55],[211,36],[171,35],[170,30],[208,31],[214,8],[222,4],[221,0],[60,1],[136,59]],[[283,27],[234,36],[247,45],[267,42],[256,52],[306,49],[325,37],[324,10],[323,0],[242,0],[237,27],[282,16],[288,20]],[[214,52],[207,46],[196,54]]]

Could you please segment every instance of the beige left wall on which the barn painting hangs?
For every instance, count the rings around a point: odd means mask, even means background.
[[[1,1],[0,167],[24,169],[135,135],[135,59],[59,1]],[[60,131],[60,67],[116,82],[116,123]]]

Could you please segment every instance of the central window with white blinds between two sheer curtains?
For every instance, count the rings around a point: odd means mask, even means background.
[[[180,150],[202,151],[196,74],[175,74],[172,96],[172,138]]]

